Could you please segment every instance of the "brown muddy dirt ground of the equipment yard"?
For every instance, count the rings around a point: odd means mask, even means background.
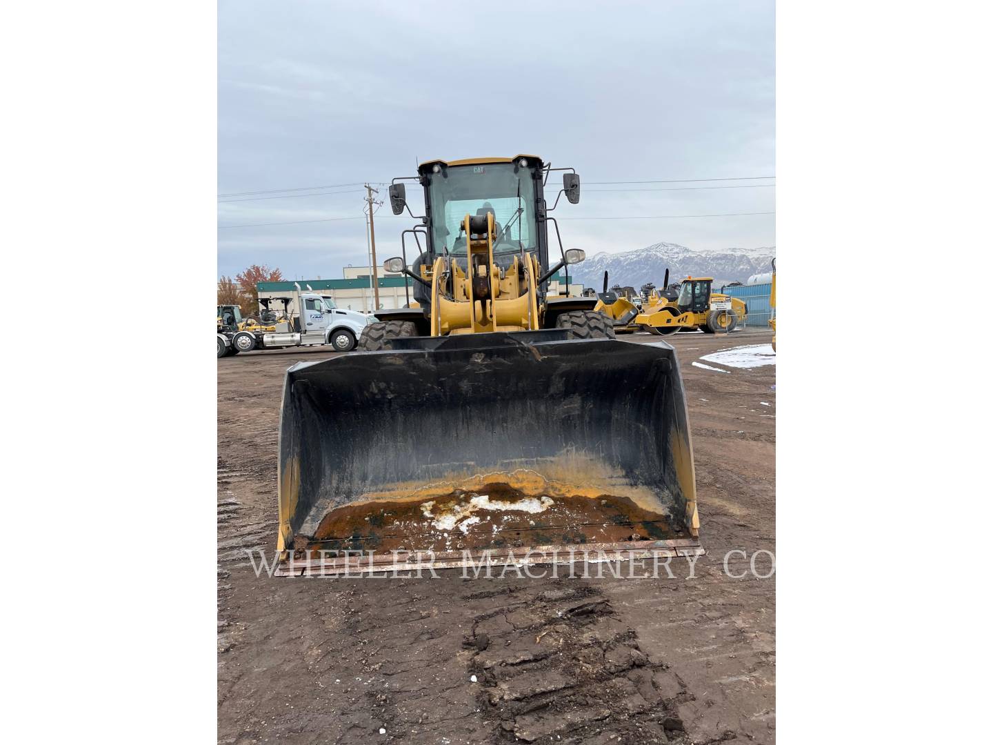
[[[256,577],[245,549],[275,545],[283,373],[333,353],[218,360],[219,741],[774,742],[776,582],[749,560],[775,551],[776,367],[691,364],[771,338],[666,339],[707,549],[693,576],[673,559],[674,579]]]

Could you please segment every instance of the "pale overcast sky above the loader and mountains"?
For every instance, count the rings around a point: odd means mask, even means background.
[[[518,153],[580,174],[566,248],[776,243],[741,215],[776,209],[773,2],[220,0],[217,68],[218,275],[341,277],[368,263],[362,183]],[[691,179],[747,180],[597,183]],[[373,187],[381,262],[414,221]],[[698,215],[737,217],[660,217]]]

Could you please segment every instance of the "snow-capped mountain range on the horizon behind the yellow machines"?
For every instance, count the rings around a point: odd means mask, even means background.
[[[775,256],[775,245],[694,251],[678,243],[652,243],[633,251],[601,251],[587,256],[586,261],[569,267],[569,278],[599,291],[603,287],[604,271],[608,271],[612,286],[631,285],[637,290],[645,282],[660,286],[668,267],[669,282],[687,275],[713,277],[714,285],[720,287],[729,282],[745,282],[752,274],[771,271],[770,262]]]

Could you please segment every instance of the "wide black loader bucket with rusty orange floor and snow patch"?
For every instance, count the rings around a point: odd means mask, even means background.
[[[279,574],[702,552],[667,344],[392,344],[286,373]]]

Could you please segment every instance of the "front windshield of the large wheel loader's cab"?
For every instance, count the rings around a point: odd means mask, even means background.
[[[465,256],[463,221],[467,215],[488,212],[497,222],[494,253],[512,253],[521,247],[536,250],[533,172],[533,167],[515,163],[485,163],[431,174],[428,194],[435,251]]]

